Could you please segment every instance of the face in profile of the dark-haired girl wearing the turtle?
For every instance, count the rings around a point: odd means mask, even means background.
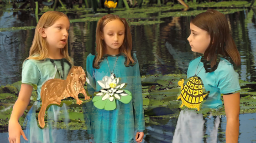
[[[190,23],[190,35],[188,42],[193,52],[204,54],[210,44],[211,37],[207,31]]]

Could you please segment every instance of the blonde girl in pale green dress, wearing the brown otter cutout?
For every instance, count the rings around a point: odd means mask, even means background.
[[[68,56],[69,25],[68,16],[58,11],[48,11],[38,21],[29,57],[22,65],[21,91],[9,120],[10,143],[20,143],[21,135],[29,143],[55,142],[51,133],[54,129],[52,122],[48,122],[46,128],[39,128],[36,111],[40,107],[42,84],[51,77],[66,79],[73,65],[72,59]],[[58,74],[55,72],[56,68]],[[37,101],[26,115],[24,133],[19,118],[30,103],[33,88],[37,89]],[[57,116],[55,113],[59,110],[60,107],[50,106],[48,118],[55,118]],[[67,114],[67,110],[64,111]]]

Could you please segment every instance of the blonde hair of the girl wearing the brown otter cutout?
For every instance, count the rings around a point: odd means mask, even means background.
[[[42,17],[37,23],[34,39],[29,51],[29,57],[26,59],[35,59],[35,60],[47,59],[47,56],[48,56],[47,41],[45,38],[43,38],[40,35],[38,30],[39,28],[51,27],[61,17],[68,18],[67,15],[58,11],[47,11],[42,15]],[[68,41],[67,41],[67,44],[64,46],[64,48],[61,49],[61,54],[64,56],[65,59],[68,60],[68,62],[70,62],[70,64],[73,64],[71,58],[68,55]]]

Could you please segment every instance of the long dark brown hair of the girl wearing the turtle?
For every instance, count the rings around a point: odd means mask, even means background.
[[[209,47],[204,52],[204,59],[211,59],[211,67],[216,64],[217,54],[230,57],[237,66],[241,64],[240,54],[224,14],[209,9],[197,15],[191,23],[207,31],[211,37]]]

